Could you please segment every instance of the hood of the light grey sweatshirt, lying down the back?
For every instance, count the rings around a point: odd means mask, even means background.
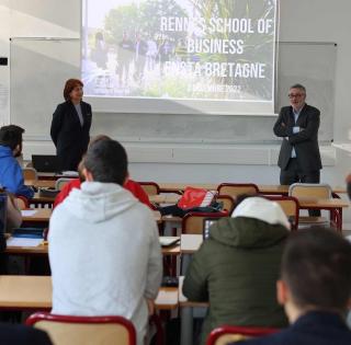
[[[63,207],[79,219],[101,222],[125,212],[136,204],[138,200],[133,194],[116,183],[84,182],[80,189],[75,188],[69,193]]]

